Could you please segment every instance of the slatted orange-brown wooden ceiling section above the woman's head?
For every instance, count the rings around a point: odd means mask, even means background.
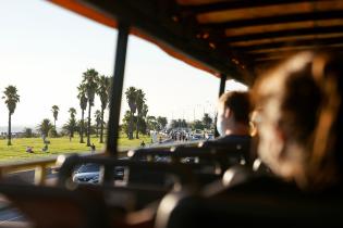
[[[343,0],[176,0],[218,48],[253,68],[311,49],[343,50]]]

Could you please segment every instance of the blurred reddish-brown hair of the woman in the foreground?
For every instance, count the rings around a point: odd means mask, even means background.
[[[289,163],[302,187],[326,187],[342,177],[342,61],[336,54],[302,52],[253,90],[255,104],[269,109],[267,117],[284,134],[283,150],[268,162],[274,169]],[[269,151],[259,153],[268,156]]]

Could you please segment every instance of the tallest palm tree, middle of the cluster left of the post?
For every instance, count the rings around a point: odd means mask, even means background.
[[[91,106],[94,105],[94,99],[95,99],[95,94],[98,87],[98,84],[97,84],[97,81],[99,80],[98,75],[99,73],[95,71],[94,68],[87,69],[83,74],[82,83],[85,85],[86,97],[88,101],[87,147],[90,147],[90,123],[91,123],[90,110],[91,110]]]

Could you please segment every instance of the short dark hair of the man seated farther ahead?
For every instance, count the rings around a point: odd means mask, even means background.
[[[252,112],[252,103],[248,92],[232,91],[223,93],[219,103],[225,109],[233,112],[234,119],[243,124],[249,124],[249,114]]]

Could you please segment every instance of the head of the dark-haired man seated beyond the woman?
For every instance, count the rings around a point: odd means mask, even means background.
[[[247,92],[223,93],[218,102],[218,132],[225,136],[232,132],[237,125],[249,127],[250,111],[252,105]]]

